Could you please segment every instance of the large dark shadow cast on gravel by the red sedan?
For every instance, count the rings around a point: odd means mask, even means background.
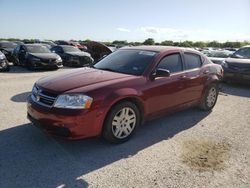
[[[185,131],[209,113],[196,109],[152,120],[121,145],[102,139],[67,141],[31,124],[0,131],[0,187],[87,187],[79,176],[110,165]],[[180,118],[181,117],[181,118]]]

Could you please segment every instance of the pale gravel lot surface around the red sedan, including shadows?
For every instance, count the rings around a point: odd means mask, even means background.
[[[250,187],[250,87],[223,85],[211,113],[162,117],[110,145],[56,139],[29,123],[26,97],[49,74],[0,73],[0,187]]]

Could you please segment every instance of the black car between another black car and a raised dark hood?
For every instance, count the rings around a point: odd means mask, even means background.
[[[87,52],[82,52],[77,47],[70,45],[59,45],[51,48],[63,61],[64,66],[83,67],[92,65],[93,59]]]

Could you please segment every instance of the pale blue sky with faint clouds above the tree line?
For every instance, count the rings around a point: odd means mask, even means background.
[[[0,38],[250,41],[250,0],[0,0]]]

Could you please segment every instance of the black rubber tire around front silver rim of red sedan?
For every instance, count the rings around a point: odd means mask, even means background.
[[[123,138],[123,139],[119,139],[119,138],[115,137],[113,134],[112,121],[113,121],[114,116],[117,114],[117,112],[125,107],[129,107],[129,108],[132,108],[134,110],[135,115],[136,115],[136,125],[134,127],[134,130],[131,132],[131,134],[129,136],[127,136],[126,138]],[[118,103],[111,108],[111,110],[109,111],[109,113],[105,119],[104,127],[103,127],[103,137],[105,140],[107,140],[111,143],[123,143],[123,142],[129,140],[131,138],[131,136],[133,136],[133,134],[136,132],[136,129],[138,128],[138,126],[140,124],[140,120],[141,120],[140,111],[134,103],[132,103],[132,102]]]

